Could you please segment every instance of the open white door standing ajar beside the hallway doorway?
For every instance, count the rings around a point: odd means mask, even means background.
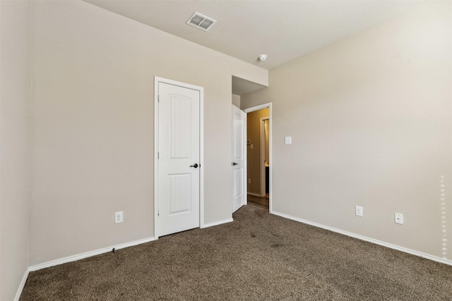
[[[246,113],[232,106],[232,212],[246,202]]]

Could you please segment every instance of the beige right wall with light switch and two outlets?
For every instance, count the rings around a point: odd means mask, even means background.
[[[274,211],[452,259],[451,20],[429,1],[242,95],[273,102]]]

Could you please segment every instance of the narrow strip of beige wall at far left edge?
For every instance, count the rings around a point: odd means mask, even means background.
[[[0,1],[0,300],[28,270],[30,1]]]

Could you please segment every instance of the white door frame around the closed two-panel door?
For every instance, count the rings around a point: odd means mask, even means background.
[[[196,85],[169,80],[167,78],[154,78],[154,239],[158,239],[158,204],[159,195],[159,113],[158,113],[158,84],[159,82],[199,91],[199,228],[204,226],[204,88]]]

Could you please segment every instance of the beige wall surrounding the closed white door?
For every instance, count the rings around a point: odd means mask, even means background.
[[[204,87],[205,223],[232,217],[232,75],[267,70],[83,1],[36,2],[32,27],[30,265],[153,237],[155,76]]]

